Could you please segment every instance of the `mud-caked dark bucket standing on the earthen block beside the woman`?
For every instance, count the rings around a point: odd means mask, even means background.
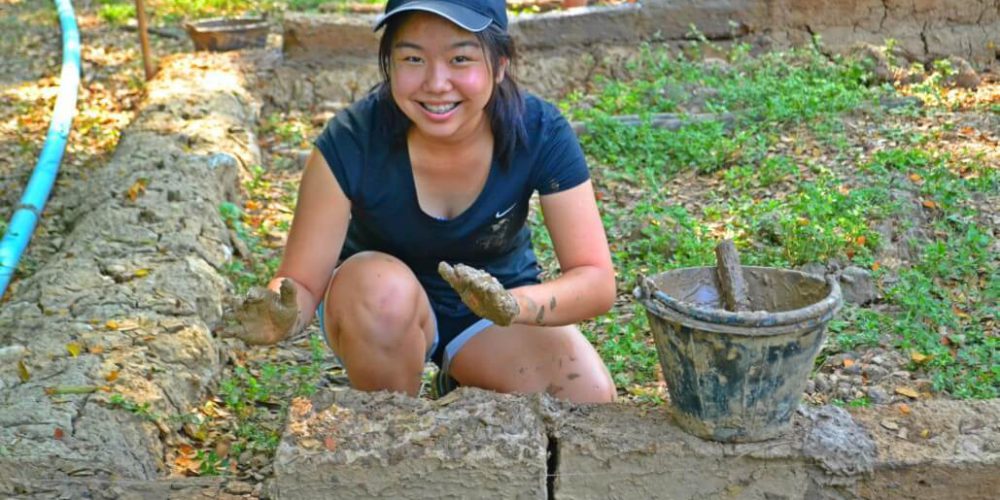
[[[669,411],[706,439],[747,442],[785,431],[826,324],[841,306],[833,278],[742,266],[752,312],[726,311],[714,267],[640,278]]]

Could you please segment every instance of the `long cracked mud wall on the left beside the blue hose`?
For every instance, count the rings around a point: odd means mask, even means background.
[[[176,429],[111,394],[176,415],[220,372],[218,207],[259,161],[257,110],[226,56],[161,64],[111,161],[59,193],[76,207],[61,248],[0,310],[0,494],[155,479]]]

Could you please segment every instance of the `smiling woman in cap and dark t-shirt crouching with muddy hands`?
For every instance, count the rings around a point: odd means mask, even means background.
[[[273,343],[317,311],[356,389],[415,395],[430,359],[442,385],[612,401],[573,326],[615,299],[604,228],[568,123],[509,74],[504,2],[393,0],[382,27],[382,84],[317,139],[276,277],[227,331]],[[562,269],[546,283],[535,191]]]

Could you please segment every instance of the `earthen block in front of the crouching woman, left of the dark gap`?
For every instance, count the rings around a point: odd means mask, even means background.
[[[344,389],[297,399],[275,457],[280,498],[545,498],[544,424],[525,397],[437,401]]]

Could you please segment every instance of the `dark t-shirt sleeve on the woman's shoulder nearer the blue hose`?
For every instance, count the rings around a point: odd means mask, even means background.
[[[359,176],[365,164],[362,144],[366,132],[356,113],[356,108],[337,113],[314,143],[333,171],[340,189],[351,201],[356,199],[360,189]]]

